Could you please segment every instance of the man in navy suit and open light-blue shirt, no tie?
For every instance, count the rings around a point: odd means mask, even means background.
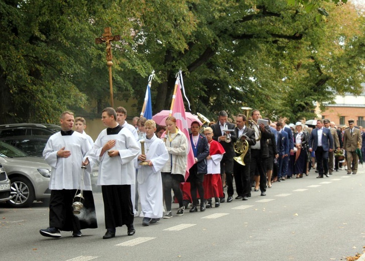
[[[328,152],[333,148],[333,137],[328,128],[323,127],[323,121],[317,120],[317,127],[309,136],[309,151],[315,152],[318,168],[318,177],[323,178],[323,174],[328,178]]]

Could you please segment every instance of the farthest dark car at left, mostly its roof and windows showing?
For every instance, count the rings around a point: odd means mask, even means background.
[[[61,127],[55,124],[39,123],[14,123],[0,125],[0,138],[11,136],[33,136],[46,135],[51,136],[61,130]]]

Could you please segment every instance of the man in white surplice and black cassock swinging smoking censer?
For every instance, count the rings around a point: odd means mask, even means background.
[[[72,131],[74,115],[65,111],[61,114],[61,131],[52,135],[43,151],[43,157],[52,167],[49,189],[49,227],[40,233],[48,237],[61,237],[60,230],[73,231],[74,237],[81,236],[81,229],[96,228],[94,199],[90,175],[85,172],[82,179],[82,165],[90,172],[93,160],[85,155],[91,149],[85,136]],[[73,214],[72,202],[76,191],[83,189],[83,208],[79,215]]]

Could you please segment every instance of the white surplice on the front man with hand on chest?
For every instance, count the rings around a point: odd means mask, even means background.
[[[110,150],[118,150],[119,156],[109,157],[105,152],[101,157],[101,149],[109,140],[115,140],[115,146]],[[121,128],[118,134],[107,135],[103,129],[97,137],[92,154],[99,162],[97,185],[131,185],[135,184],[135,167],[133,159],[140,152],[135,137],[127,128]]]

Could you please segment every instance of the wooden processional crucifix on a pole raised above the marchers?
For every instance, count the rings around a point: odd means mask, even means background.
[[[111,55],[111,41],[120,41],[120,35],[111,35],[111,28],[106,27],[104,28],[104,33],[102,34],[102,37],[95,38],[96,44],[102,44],[105,42],[106,45],[106,65],[109,68],[109,89],[110,89],[110,105],[113,108],[114,107],[114,99],[113,99],[113,82],[111,78],[111,66],[113,66]]]

